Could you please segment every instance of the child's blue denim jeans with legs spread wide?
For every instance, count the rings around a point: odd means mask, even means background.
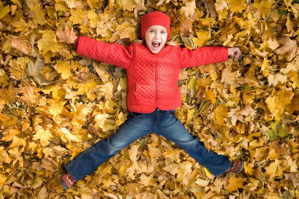
[[[151,113],[131,112],[115,134],[76,156],[65,166],[65,169],[78,181],[96,171],[101,164],[121,149],[151,132],[177,144],[216,177],[231,165],[228,157],[208,151],[199,142],[197,136],[192,136],[175,117],[174,110],[157,108]]]

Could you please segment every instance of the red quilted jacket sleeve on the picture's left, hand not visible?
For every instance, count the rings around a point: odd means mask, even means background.
[[[79,55],[124,69],[130,67],[134,56],[133,45],[124,47],[121,44],[110,44],[84,36],[78,38],[74,47]]]

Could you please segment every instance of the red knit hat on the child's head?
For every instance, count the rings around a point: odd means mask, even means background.
[[[145,14],[140,19],[141,38],[144,39],[146,31],[152,25],[161,25],[167,30],[167,40],[170,37],[170,18],[161,11],[154,11]]]

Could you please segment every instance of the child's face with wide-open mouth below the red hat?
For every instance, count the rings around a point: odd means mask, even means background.
[[[145,39],[149,50],[158,53],[167,40],[167,30],[161,25],[152,25],[146,31]]]

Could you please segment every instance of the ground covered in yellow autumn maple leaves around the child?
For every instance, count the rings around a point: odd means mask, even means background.
[[[244,171],[214,178],[149,134],[64,191],[63,164],[128,115],[126,72],[69,43],[132,41],[150,10],[166,12],[190,49],[242,49],[182,70],[176,115]],[[298,22],[298,0],[0,1],[0,199],[299,199]]]

